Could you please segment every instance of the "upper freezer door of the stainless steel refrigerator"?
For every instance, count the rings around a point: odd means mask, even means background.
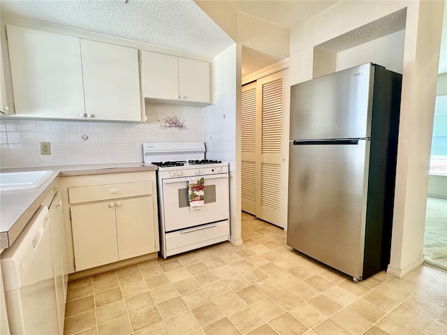
[[[291,87],[291,140],[369,137],[374,66],[364,64]]]

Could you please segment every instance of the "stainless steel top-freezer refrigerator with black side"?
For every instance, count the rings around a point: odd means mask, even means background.
[[[376,64],[291,87],[287,244],[354,281],[390,259],[401,87]]]

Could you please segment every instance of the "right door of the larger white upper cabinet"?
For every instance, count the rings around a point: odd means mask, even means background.
[[[141,121],[138,50],[80,40],[87,118]]]

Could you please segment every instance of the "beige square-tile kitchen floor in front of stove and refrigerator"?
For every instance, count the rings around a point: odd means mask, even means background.
[[[242,214],[228,242],[68,284],[64,334],[447,334],[447,272],[360,283]]]

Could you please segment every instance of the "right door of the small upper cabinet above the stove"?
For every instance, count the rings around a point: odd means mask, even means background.
[[[210,64],[179,58],[179,95],[184,101],[210,103]]]

